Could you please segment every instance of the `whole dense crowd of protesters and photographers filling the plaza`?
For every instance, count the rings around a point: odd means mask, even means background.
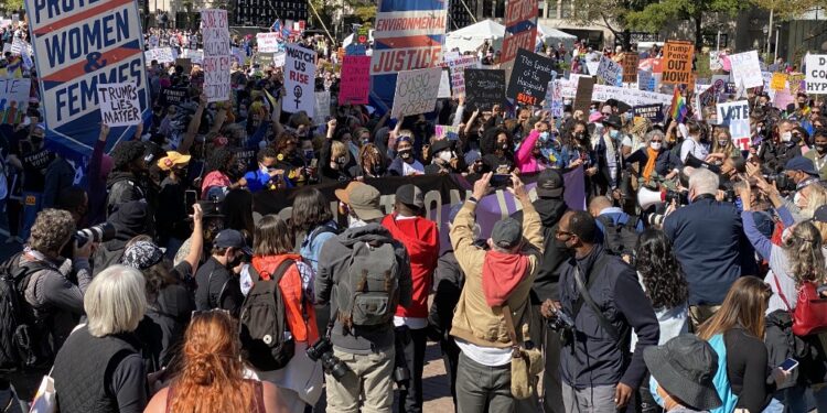
[[[336,101],[330,43],[300,43],[325,51],[315,84]],[[197,64],[150,62],[151,119],[110,154],[101,126],[85,185],[35,105],[0,126],[7,243],[23,247],[0,271],[31,327],[0,351],[4,411],[20,411],[6,371],[24,366],[51,369],[69,413],[389,412],[395,389],[421,412],[437,341],[458,412],[827,412],[827,323],[796,309],[821,309],[827,285],[825,101],[749,90],[742,149],[691,105],[652,123],[614,99],[314,119],[283,111],[282,69],[253,62],[217,104]],[[441,227],[416,177],[449,174],[469,194]],[[390,176],[411,178],[385,208],[370,183]],[[287,189],[289,211],[254,205]],[[483,233],[494,191],[519,211]],[[107,235],[76,235],[90,227]]]

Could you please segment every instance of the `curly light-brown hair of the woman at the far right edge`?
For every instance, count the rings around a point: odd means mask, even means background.
[[[793,227],[793,233],[784,241],[784,252],[790,260],[788,274],[795,284],[805,281],[825,282],[824,253],[821,253],[821,233],[810,221]]]

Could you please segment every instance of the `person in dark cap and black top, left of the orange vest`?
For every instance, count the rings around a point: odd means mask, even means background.
[[[195,290],[195,309],[222,308],[238,317],[244,294],[236,269],[240,270],[245,254],[250,257],[251,251],[241,232],[235,229],[218,232],[213,240],[212,254],[195,273],[198,285]]]

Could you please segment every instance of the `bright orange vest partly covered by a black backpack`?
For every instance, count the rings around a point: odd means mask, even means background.
[[[261,274],[261,280],[270,280],[270,274],[287,259],[298,263],[301,261],[301,256],[296,253],[256,256],[253,258],[253,267]],[[308,270],[313,271],[310,265],[308,265]],[[281,289],[281,295],[284,297],[284,316],[290,333],[293,335],[293,340],[312,345],[319,339],[319,327],[315,323],[313,303],[303,297],[301,274],[299,274],[297,265],[290,265],[279,281],[279,289]]]

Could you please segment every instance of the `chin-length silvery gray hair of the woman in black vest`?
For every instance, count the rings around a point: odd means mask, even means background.
[[[104,337],[129,333],[147,312],[143,274],[126,265],[112,265],[92,280],[84,294],[89,334]]]

